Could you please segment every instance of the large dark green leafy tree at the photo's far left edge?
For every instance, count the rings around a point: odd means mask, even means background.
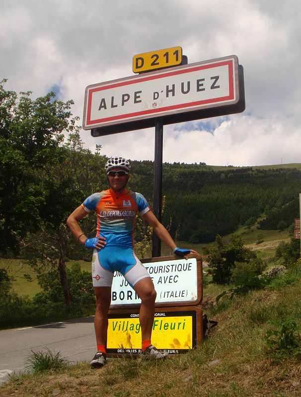
[[[32,100],[31,92],[4,88],[0,81],[0,253],[18,253],[20,239],[39,229],[44,201],[41,173],[77,118],[73,101],[55,99],[50,92]]]

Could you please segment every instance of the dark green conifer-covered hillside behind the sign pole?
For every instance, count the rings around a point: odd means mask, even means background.
[[[153,163],[133,161],[131,189],[148,199]],[[257,218],[261,228],[283,229],[299,217],[301,171],[297,168],[211,167],[164,163],[163,223],[171,234],[193,243],[211,242]],[[171,222],[170,222],[171,219]]]

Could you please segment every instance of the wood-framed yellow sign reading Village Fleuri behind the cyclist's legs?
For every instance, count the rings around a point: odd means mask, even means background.
[[[171,355],[187,353],[203,339],[202,310],[197,306],[157,308],[152,326],[152,344]],[[107,356],[137,356],[141,353],[139,310],[109,312]]]

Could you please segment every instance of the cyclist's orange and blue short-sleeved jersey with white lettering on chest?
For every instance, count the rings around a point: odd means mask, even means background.
[[[96,237],[105,237],[106,247],[133,247],[136,215],[138,212],[144,215],[150,210],[147,200],[140,193],[125,189],[120,193],[112,189],[94,193],[81,206],[87,212],[96,212]]]

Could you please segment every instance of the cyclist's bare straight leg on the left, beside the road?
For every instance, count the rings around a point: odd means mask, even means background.
[[[94,317],[94,328],[96,343],[107,344],[108,334],[108,311],[111,304],[111,287],[94,287],[96,298],[96,310]]]

